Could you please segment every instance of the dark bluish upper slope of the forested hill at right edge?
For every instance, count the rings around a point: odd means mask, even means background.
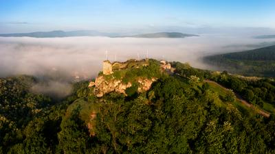
[[[214,58],[228,58],[230,60],[275,60],[275,45],[263,47],[250,51],[242,51],[236,53],[226,53],[223,55],[214,55]]]

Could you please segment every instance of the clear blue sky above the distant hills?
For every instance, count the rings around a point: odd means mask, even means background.
[[[0,0],[0,33],[275,28],[273,0]]]

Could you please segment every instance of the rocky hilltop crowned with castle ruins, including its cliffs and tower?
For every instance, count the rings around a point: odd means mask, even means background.
[[[155,60],[128,60],[126,62],[104,61],[102,73],[89,83],[94,94],[103,97],[109,92],[118,92],[131,96],[151,88],[153,81],[161,77],[163,71],[171,71],[170,64]]]

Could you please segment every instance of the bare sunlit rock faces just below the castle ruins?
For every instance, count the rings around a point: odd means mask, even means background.
[[[146,90],[149,90],[151,88],[151,85],[153,84],[153,81],[156,81],[156,79],[137,79],[138,83],[138,92],[144,92]],[[108,94],[109,92],[118,92],[120,94],[125,94],[126,88],[130,88],[132,86],[132,83],[129,82],[127,84],[124,84],[122,80],[118,79],[111,79],[109,81],[106,81],[103,76],[99,76],[96,78],[96,81],[91,81],[89,84],[89,87],[94,86],[94,94],[96,94],[96,97],[103,97],[104,94]]]

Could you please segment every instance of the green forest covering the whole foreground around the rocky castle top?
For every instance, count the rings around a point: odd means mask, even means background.
[[[152,73],[151,62],[127,72],[129,80]],[[274,80],[171,65],[175,73],[154,72],[150,90],[133,85],[128,96],[98,98],[89,81],[78,81],[72,94],[54,99],[30,90],[36,77],[1,78],[0,153],[275,153]]]

